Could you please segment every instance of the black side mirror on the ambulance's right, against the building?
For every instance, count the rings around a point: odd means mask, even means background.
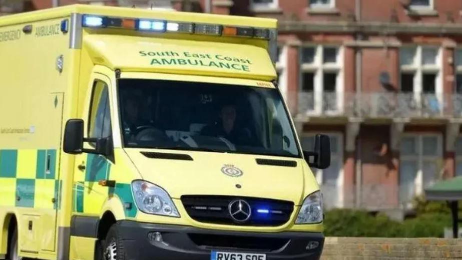
[[[317,134],[314,140],[314,151],[303,151],[305,160],[310,167],[326,169],[330,166],[330,138]]]

